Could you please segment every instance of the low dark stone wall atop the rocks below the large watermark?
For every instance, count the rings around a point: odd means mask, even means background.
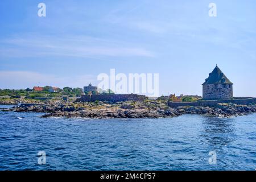
[[[94,102],[94,101],[144,101],[146,96],[137,94],[100,94],[100,95],[84,95],[78,98],[76,102]]]

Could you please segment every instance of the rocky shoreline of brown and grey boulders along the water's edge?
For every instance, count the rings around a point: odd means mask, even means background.
[[[31,103],[28,103],[31,104]],[[2,111],[46,113],[42,117],[82,118],[166,118],[182,114],[201,114],[210,117],[233,117],[256,112],[256,105],[218,104],[216,107],[168,107],[167,101],[143,102],[64,102],[44,101],[35,105],[14,106]]]

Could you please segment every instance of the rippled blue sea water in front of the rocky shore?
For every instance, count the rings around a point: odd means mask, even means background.
[[[6,107],[0,105],[1,107]],[[255,170],[256,114],[40,118],[0,111],[0,170]],[[46,164],[39,165],[39,151]],[[217,164],[209,164],[209,152]]]

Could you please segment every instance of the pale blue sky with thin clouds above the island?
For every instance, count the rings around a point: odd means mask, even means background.
[[[234,96],[256,97],[255,8],[253,0],[1,0],[0,88],[82,88],[115,69],[159,73],[159,95],[201,96],[218,64]]]

